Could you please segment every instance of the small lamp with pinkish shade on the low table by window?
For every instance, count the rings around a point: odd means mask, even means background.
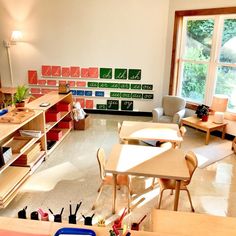
[[[214,122],[222,124],[224,121],[224,112],[227,110],[229,98],[223,94],[213,96],[211,109],[214,111]]]

